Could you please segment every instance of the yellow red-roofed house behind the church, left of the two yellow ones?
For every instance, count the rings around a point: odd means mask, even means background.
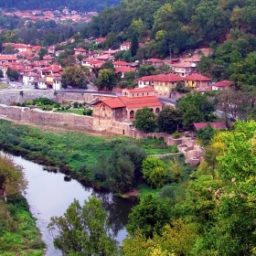
[[[170,97],[171,92],[176,88],[176,84],[183,79],[174,73],[160,74],[153,76],[154,89],[158,95]]]

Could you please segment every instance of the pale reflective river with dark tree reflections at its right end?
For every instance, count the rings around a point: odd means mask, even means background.
[[[83,205],[85,199],[91,195],[99,197],[103,201],[103,207],[108,211],[112,232],[115,239],[122,243],[126,237],[125,225],[128,214],[135,202],[121,197],[112,197],[109,193],[93,191],[91,187],[83,187],[74,179],[64,181],[64,175],[49,173],[43,170],[42,165],[27,161],[20,156],[13,156],[16,164],[24,167],[28,187],[25,197],[30,206],[33,217],[37,218],[37,228],[42,233],[42,239],[47,243],[48,256],[62,255],[52,243],[52,237],[48,233],[48,223],[52,216],[62,216],[74,198]]]

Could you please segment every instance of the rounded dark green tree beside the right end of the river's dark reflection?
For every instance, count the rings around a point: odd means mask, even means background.
[[[131,236],[140,229],[146,238],[161,234],[165,224],[172,216],[172,208],[167,200],[158,199],[148,193],[140,199],[139,205],[129,214],[127,230]]]

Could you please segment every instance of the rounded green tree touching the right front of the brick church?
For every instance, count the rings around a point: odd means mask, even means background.
[[[156,116],[150,108],[144,107],[135,113],[135,120],[133,121],[136,129],[144,131],[144,133],[151,133],[156,128]]]

